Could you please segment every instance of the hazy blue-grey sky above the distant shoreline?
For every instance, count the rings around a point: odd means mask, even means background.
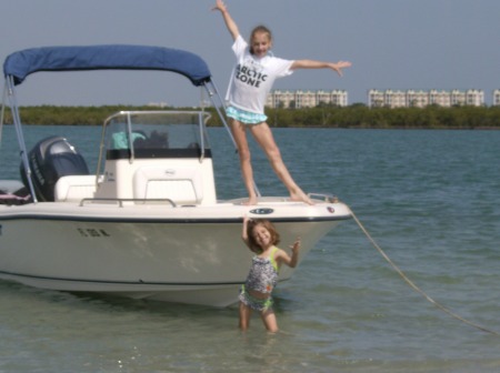
[[[146,44],[203,58],[223,95],[234,63],[214,0],[2,0],[0,59],[34,47]],[[274,89],[346,90],[368,103],[370,89],[500,89],[499,0],[226,0],[241,34],[258,24],[273,32],[286,59],[352,62],[339,78],[299,70]],[[3,62],[2,62],[3,63]],[[36,73],[18,87],[21,105],[163,102],[198,105],[183,77],[164,72]]]

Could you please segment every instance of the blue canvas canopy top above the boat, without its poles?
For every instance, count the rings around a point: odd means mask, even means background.
[[[42,47],[26,49],[7,57],[6,77],[20,84],[38,71],[78,70],[164,70],[188,78],[194,85],[210,80],[207,63],[191,52],[147,46]]]

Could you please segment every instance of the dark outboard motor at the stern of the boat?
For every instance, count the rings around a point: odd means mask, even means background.
[[[89,168],[68,140],[50,137],[38,142],[28,154],[31,180],[40,201],[52,202],[57,181],[67,175],[89,174]],[[29,188],[24,165],[21,163],[22,182]]]

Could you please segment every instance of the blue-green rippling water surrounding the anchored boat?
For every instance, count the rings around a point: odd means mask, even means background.
[[[13,129],[3,130],[0,179],[17,178]],[[500,333],[500,131],[273,131],[306,191],[338,195],[428,296]],[[27,141],[40,134],[64,134],[94,169],[98,128],[30,127]],[[219,198],[244,195],[224,130],[210,134]],[[262,194],[284,194],[262,152],[252,154]],[[0,299],[0,372],[500,371],[500,336],[410,288],[353,220],[278,286],[277,334],[258,316],[239,332],[234,308],[2,281]]]

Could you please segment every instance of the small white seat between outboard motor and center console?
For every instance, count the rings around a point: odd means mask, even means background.
[[[94,193],[96,175],[69,175],[57,181],[53,196],[56,202],[69,202],[93,198]]]

